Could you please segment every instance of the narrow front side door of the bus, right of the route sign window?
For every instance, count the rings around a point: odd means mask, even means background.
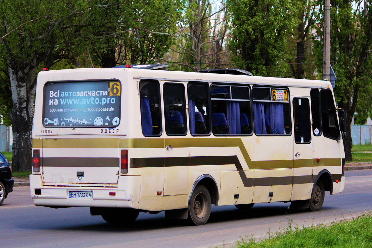
[[[312,180],[310,102],[307,97],[293,97],[292,104],[294,179],[291,200],[303,200],[310,198]]]

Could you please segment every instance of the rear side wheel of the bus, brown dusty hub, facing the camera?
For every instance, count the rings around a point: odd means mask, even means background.
[[[190,197],[187,220],[192,225],[205,224],[211,215],[212,200],[208,189],[203,185],[195,187]]]

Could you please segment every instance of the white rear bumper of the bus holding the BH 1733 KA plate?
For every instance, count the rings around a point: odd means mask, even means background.
[[[36,206],[55,208],[127,207],[138,209],[141,192],[141,176],[120,176],[118,184],[115,185],[115,187],[78,187],[62,185],[45,186],[42,183],[40,174],[31,174],[30,191],[33,203]],[[76,192],[78,194],[76,194]],[[84,198],[73,198],[79,197],[80,195]]]

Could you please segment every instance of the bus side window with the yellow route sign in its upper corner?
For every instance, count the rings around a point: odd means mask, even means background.
[[[256,135],[290,135],[288,89],[254,87],[253,118]]]

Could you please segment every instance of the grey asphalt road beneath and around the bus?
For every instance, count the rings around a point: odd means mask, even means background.
[[[326,195],[319,212],[289,210],[289,203],[256,204],[249,211],[212,207],[206,225],[187,226],[164,219],[164,212],[140,213],[129,227],[90,216],[87,208],[51,209],[33,206],[29,187],[15,187],[0,206],[0,247],[215,247],[251,235],[295,225],[317,225],[351,219],[372,210],[372,170],[346,171],[342,193]]]

